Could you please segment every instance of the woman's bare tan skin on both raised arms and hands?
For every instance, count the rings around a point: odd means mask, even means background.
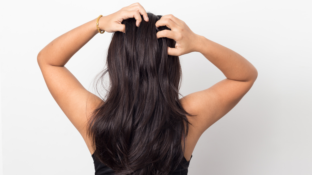
[[[128,18],[135,18],[137,26],[142,20],[149,20],[144,8],[139,3],[134,3],[118,12],[101,17],[100,30],[125,32],[125,26],[121,22]],[[176,41],[175,48],[168,48],[169,55],[180,56],[200,52],[226,76],[226,79],[212,87],[180,99],[188,113],[197,115],[188,117],[192,125],[189,128],[184,157],[190,160],[202,133],[236,106],[256,81],[258,73],[256,68],[240,54],[195,34],[184,21],[173,15],[161,17],[156,22],[156,27],[159,26],[167,26],[171,31],[159,31],[157,38],[167,37]],[[80,132],[91,154],[94,150],[86,135],[86,123],[91,112],[102,100],[87,91],[64,65],[98,33],[95,18],[57,37],[37,56],[51,95]]]

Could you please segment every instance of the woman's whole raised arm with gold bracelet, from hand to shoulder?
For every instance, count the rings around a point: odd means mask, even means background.
[[[122,31],[124,19],[135,18],[137,26],[148,21],[147,13],[139,3],[131,4],[108,16],[100,17],[99,28],[106,32]],[[87,91],[64,65],[98,32],[96,19],[57,37],[38,54],[37,61],[46,85],[62,111],[86,141],[85,124],[90,113],[102,102]],[[88,101],[87,101],[88,100]]]

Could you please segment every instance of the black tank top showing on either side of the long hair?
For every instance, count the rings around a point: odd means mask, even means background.
[[[193,155],[191,156],[191,158],[193,157]],[[94,169],[95,169],[95,175],[115,175],[114,174],[114,170],[112,170],[111,168],[107,167],[106,165],[98,162],[95,157],[94,154],[92,154],[92,158],[93,158],[93,163],[94,163]],[[190,159],[191,161],[191,159]],[[181,164],[178,166],[178,168],[170,175],[187,175],[188,174],[188,166],[190,165],[190,161],[187,161],[185,157],[183,157],[183,160],[181,162],[186,164],[187,168],[183,168],[181,166]]]

